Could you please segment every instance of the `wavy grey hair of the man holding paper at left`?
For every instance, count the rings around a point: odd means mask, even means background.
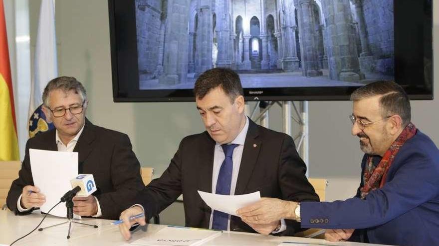
[[[43,92],[43,104],[49,107],[49,93],[55,89],[61,89],[64,92],[73,90],[76,94],[79,94],[82,101],[87,100],[87,94],[85,93],[85,88],[81,82],[77,81],[74,77],[61,76],[55,78],[47,83]]]

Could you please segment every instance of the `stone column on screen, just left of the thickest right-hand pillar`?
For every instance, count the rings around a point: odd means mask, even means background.
[[[299,20],[299,32],[302,55],[302,75],[306,77],[321,76],[319,66],[318,44],[315,33],[314,0],[295,0]]]

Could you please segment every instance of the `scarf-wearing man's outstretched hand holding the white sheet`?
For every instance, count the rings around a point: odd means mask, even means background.
[[[278,223],[280,219],[295,219],[296,205],[295,202],[264,197],[252,205],[238,209],[236,213],[247,224],[271,224]]]

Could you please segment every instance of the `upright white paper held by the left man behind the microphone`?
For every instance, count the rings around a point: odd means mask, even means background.
[[[46,196],[40,210],[47,213],[65,192],[72,189],[70,179],[78,175],[78,153],[29,149],[29,157],[33,183]],[[50,214],[66,218],[65,203],[58,204]],[[74,218],[81,217],[74,215]]]

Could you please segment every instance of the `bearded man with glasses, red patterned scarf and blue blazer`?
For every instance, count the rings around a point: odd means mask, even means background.
[[[327,229],[329,241],[439,245],[439,150],[411,122],[410,100],[395,82],[373,82],[351,95],[352,135],[365,153],[354,198],[291,202],[262,198],[239,209],[247,223],[294,219]]]

